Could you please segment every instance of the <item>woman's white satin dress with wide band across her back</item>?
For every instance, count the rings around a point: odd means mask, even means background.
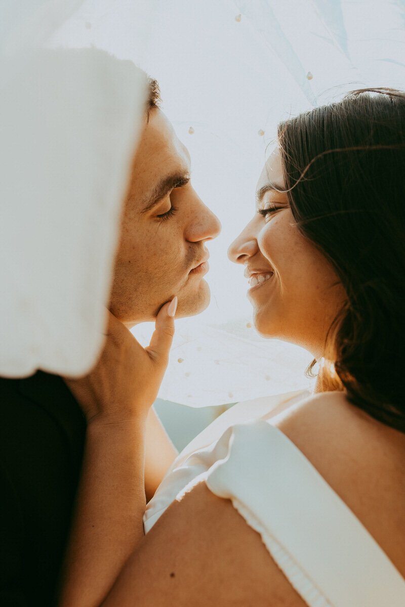
[[[149,502],[145,532],[205,481],[228,498],[310,607],[404,607],[405,580],[358,518],[281,430],[265,420],[307,392],[239,403],[175,459]]]

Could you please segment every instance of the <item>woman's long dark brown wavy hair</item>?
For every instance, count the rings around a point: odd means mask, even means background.
[[[405,432],[405,93],[352,91],[278,141],[294,219],[347,293],[325,344],[337,385]]]

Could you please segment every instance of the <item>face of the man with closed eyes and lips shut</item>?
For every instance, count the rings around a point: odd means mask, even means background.
[[[127,327],[154,320],[176,295],[177,317],[209,304],[208,264],[201,264],[206,241],[221,226],[192,188],[190,169],[171,123],[152,109],[132,164],[115,257],[110,310]]]

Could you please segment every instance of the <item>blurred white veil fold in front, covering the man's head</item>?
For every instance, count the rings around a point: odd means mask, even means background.
[[[78,374],[103,339],[145,75],[43,48],[81,2],[0,4],[0,375]]]

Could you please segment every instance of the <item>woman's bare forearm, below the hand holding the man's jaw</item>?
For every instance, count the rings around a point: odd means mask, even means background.
[[[96,607],[143,537],[146,419],[87,427],[59,607]]]

